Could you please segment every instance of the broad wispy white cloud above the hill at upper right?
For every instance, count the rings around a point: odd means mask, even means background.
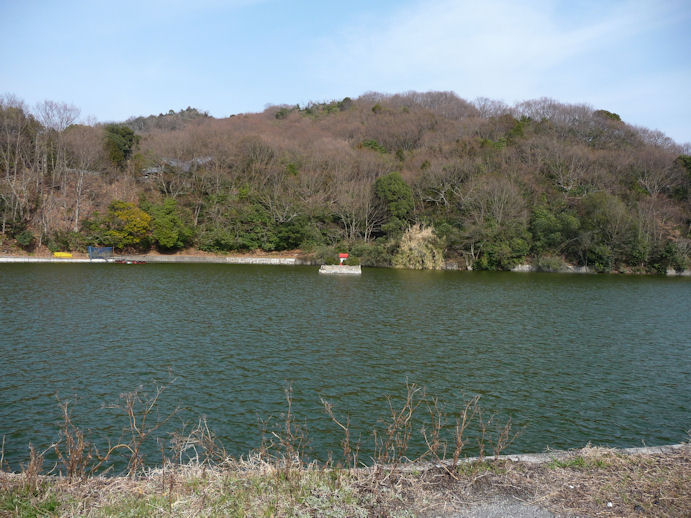
[[[325,84],[350,92],[449,89],[509,102],[542,95],[596,102],[601,87],[624,88],[640,75],[640,37],[664,34],[690,14],[685,2],[424,1],[345,28],[312,62]]]

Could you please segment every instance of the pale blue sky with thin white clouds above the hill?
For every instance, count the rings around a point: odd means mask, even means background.
[[[550,97],[691,142],[691,0],[0,0],[0,95],[123,121],[368,91]]]

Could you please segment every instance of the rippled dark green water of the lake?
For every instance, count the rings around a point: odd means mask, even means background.
[[[205,415],[226,448],[294,410],[311,451],[340,451],[320,397],[370,431],[406,378],[451,405],[524,427],[510,451],[685,440],[691,428],[691,282],[660,277],[236,265],[0,264],[0,435],[5,459],[58,437],[56,394],[117,439],[104,404],[172,372],[161,410]],[[160,459],[155,444],[149,458]]]

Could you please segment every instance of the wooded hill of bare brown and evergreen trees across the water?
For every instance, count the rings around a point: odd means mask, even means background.
[[[691,156],[605,109],[365,94],[75,124],[0,104],[0,251],[300,248],[475,269],[689,266]]]

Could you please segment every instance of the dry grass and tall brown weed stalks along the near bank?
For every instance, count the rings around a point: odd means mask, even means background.
[[[516,434],[511,421],[483,417],[479,398],[462,399],[450,412],[424,389],[406,383],[405,396],[388,399],[386,417],[374,430],[371,466],[359,462],[347,414],[322,400],[343,434],[343,466],[306,460],[307,429],[292,410],[264,431],[261,448],[248,458],[230,457],[206,421],[172,434],[161,446],[161,466],[147,468],[143,445],[177,410],[158,414],[165,386],[147,395],[122,394],[114,405],[126,418],[115,445],[99,452],[74,426],[67,402],[53,450],[57,463],[43,474],[44,455],[30,447],[21,473],[3,471],[0,447],[0,517],[4,516],[444,516],[474,502],[515,499],[561,514],[597,516],[691,516],[691,446],[664,453],[625,454],[586,447],[539,463],[500,457]],[[427,451],[410,462],[414,415],[426,413]],[[445,426],[454,423],[455,427]],[[470,425],[479,433],[470,441]],[[445,433],[448,432],[448,433]],[[160,438],[159,438],[160,439]],[[156,440],[159,440],[156,439]],[[464,458],[477,443],[480,457]],[[485,457],[485,452],[493,457]],[[111,457],[126,463],[110,473]],[[56,475],[57,474],[57,475]]]

